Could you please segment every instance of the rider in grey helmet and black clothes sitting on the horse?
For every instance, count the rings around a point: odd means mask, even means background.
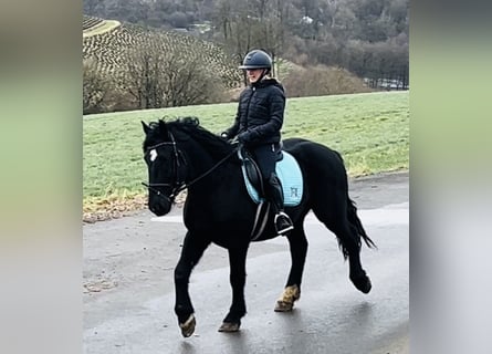
[[[284,88],[270,76],[272,59],[262,50],[249,52],[239,69],[245,70],[250,85],[241,92],[233,125],[221,136],[228,139],[237,136],[239,143],[253,154],[265,181],[265,197],[274,207],[276,233],[285,236],[294,227],[284,212],[282,186],[275,174],[276,160],[281,154]]]

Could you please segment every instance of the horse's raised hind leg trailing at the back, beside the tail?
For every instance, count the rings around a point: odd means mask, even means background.
[[[348,258],[349,279],[355,288],[368,293],[371,289],[370,279],[360,263],[360,232],[365,236],[365,231],[355,214],[355,207],[349,202],[344,191],[338,190],[331,194],[323,206],[315,204],[313,211],[318,220],[336,235],[344,258]]]

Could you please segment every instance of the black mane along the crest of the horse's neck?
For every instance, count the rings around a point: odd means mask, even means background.
[[[159,119],[159,122],[166,125],[176,139],[191,137],[213,155],[223,156],[233,148],[227,140],[201,126],[198,117],[186,116],[170,122],[165,122],[165,119]],[[159,125],[159,122],[150,123],[150,127]]]

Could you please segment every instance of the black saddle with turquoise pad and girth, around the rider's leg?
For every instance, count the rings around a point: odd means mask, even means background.
[[[241,160],[241,170],[250,198],[258,205],[254,225],[251,230],[251,240],[257,240],[263,232],[270,216],[270,202],[266,202],[264,184],[260,168],[251,153],[244,147],[238,150]],[[281,150],[276,168],[276,176],[282,184],[284,206],[295,207],[303,196],[303,176],[295,158],[285,150]]]

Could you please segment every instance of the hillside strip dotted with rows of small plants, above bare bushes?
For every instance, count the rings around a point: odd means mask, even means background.
[[[227,87],[237,87],[242,80],[237,60],[229,56],[217,43],[176,31],[83,17],[83,60],[95,63],[101,73],[123,79],[130,52],[139,49],[178,53],[185,59],[190,53],[199,53],[208,61],[210,71],[217,72]]]

